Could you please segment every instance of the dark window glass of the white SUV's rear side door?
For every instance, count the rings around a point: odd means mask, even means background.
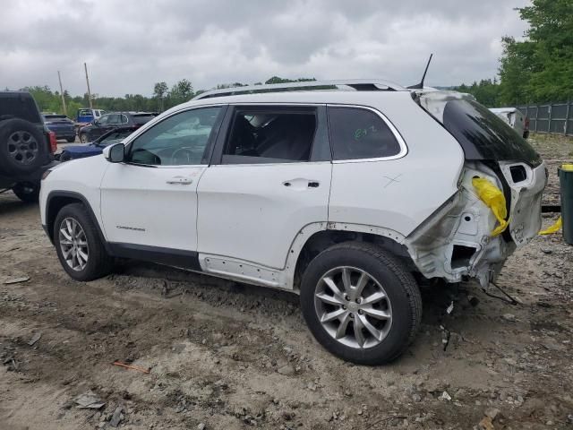
[[[308,161],[316,125],[313,107],[237,110],[223,163]]]

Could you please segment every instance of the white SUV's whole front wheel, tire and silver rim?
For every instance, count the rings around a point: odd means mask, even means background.
[[[58,212],[54,223],[57,256],[74,280],[96,280],[113,268],[98,229],[81,203],[73,203]]]

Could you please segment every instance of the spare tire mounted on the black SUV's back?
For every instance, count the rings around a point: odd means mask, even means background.
[[[46,137],[36,125],[23,119],[0,121],[0,173],[31,173],[46,161]]]

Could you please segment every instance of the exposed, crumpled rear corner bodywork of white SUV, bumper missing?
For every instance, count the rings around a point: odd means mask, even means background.
[[[458,193],[406,237],[408,252],[425,278],[459,282],[470,277],[479,280],[485,288],[495,280],[517,246],[526,245],[537,235],[541,228],[541,198],[547,182],[544,164],[530,168],[524,163],[500,162],[500,171],[503,177],[481,162],[466,162]],[[509,231],[506,233],[492,235],[499,223],[478,197],[472,185],[475,176],[488,179],[500,190],[509,188]]]

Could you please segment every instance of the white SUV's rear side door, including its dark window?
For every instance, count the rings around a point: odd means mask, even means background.
[[[197,189],[199,252],[283,269],[298,232],[328,219],[325,107],[230,110],[228,133]]]

